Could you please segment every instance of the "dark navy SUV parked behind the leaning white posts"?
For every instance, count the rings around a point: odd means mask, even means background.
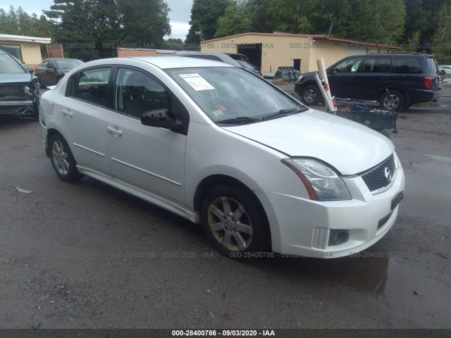
[[[442,90],[438,87],[437,64],[433,56],[427,54],[347,56],[326,72],[330,93],[336,98],[378,101],[381,108],[394,111],[420,102],[436,101]],[[295,91],[307,105],[318,104],[322,99],[314,75],[304,73],[295,82]]]

